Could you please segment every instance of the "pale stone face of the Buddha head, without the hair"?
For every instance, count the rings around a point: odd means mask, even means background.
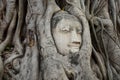
[[[72,19],[62,19],[52,29],[52,33],[59,53],[66,55],[79,51],[82,42],[80,22]]]

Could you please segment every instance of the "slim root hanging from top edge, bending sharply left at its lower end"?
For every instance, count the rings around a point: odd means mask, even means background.
[[[13,41],[14,41],[14,47],[15,47],[15,50],[17,50],[18,54],[14,54],[12,55],[11,57],[9,57],[7,60],[5,60],[4,62],[4,65],[6,66],[7,64],[9,64],[10,62],[13,63],[13,61],[17,58],[20,58],[23,56],[23,47],[22,47],[22,44],[20,42],[20,31],[21,31],[21,28],[23,26],[23,21],[24,21],[24,0],[19,0],[19,11],[18,11],[18,23],[17,23],[17,28],[16,28],[16,31],[15,31],[15,35],[14,35],[14,38],[13,38]],[[6,66],[7,68],[7,66]],[[9,69],[8,69],[9,71]],[[12,72],[8,72],[9,74],[13,74]],[[13,75],[14,77],[14,75]]]

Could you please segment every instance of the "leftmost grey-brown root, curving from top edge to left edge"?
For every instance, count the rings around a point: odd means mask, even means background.
[[[4,6],[3,6],[3,10],[5,8],[5,5],[7,4],[6,7],[6,15],[5,17],[3,17],[3,21],[1,22],[1,26],[0,26],[0,40],[3,40],[3,34],[6,30],[6,28],[10,25],[12,17],[14,15],[14,10],[15,10],[15,3],[16,0],[7,0],[6,3],[5,1],[3,1]]]

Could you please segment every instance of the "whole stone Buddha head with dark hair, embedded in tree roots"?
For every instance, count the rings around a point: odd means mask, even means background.
[[[79,51],[82,43],[82,25],[77,17],[59,11],[53,15],[51,26],[59,53],[67,55]]]

